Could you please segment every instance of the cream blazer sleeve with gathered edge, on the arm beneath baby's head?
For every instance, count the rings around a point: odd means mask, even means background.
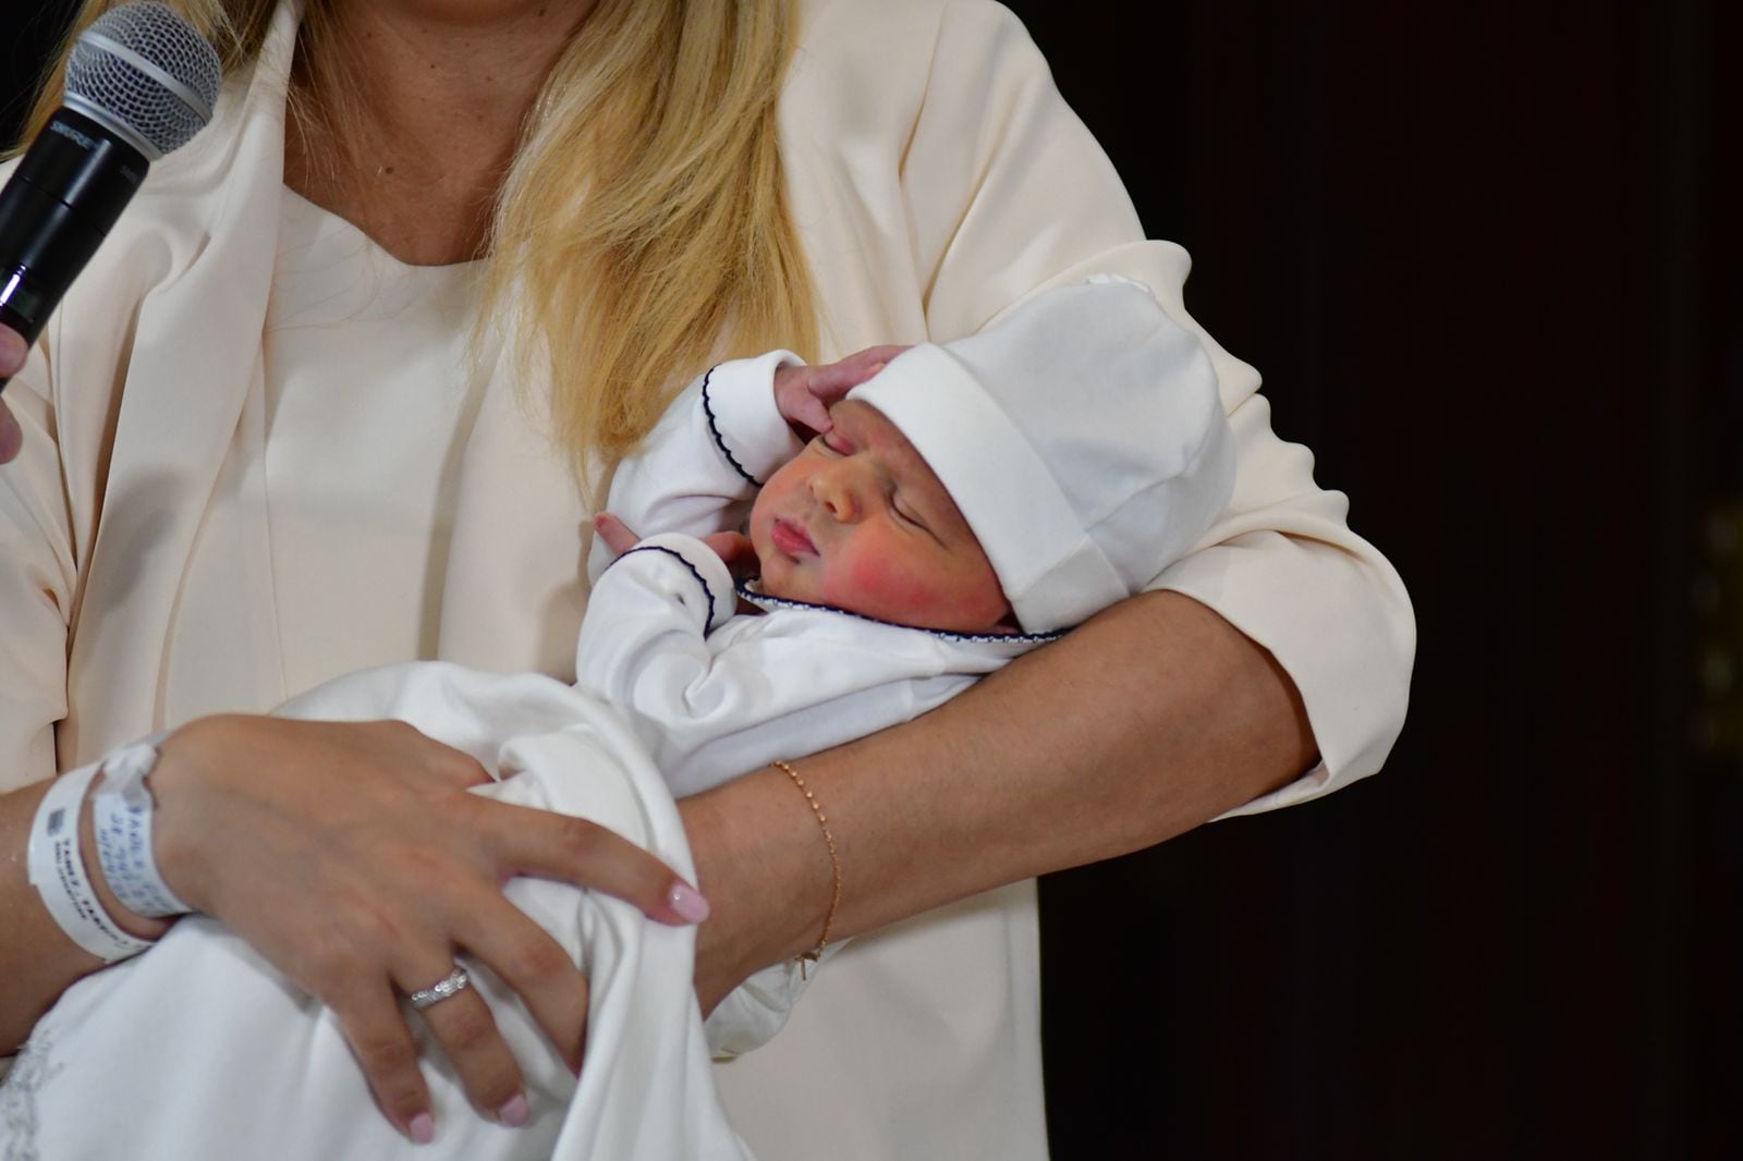
[[[1023,26],[988,0],[939,12],[926,96],[903,160],[933,338],[981,329],[1013,303],[1088,274],[1149,284],[1204,343],[1236,439],[1229,507],[1156,579],[1217,610],[1288,671],[1323,762],[1239,812],[1318,797],[1375,772],[1403,725],[1415,621],[1347,500],[1312,455],[1271,431],[1258,373],[1185,310],[1183,249],[1145,241],[1119,176],[1065,105]]]

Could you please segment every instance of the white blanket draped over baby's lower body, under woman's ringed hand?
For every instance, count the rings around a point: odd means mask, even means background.
[[[694,879],[671,793],[641,744],[560,682],[390,666],[282,713],[404,718],[500,777],[479,793],[594,819]],[[465,962],[521,1065],[526,1126],[479,1117],[413,1016],[436,1114],[434,1145],[413,1145],[375,1109],[331,1013],[223,926],[190,917],[150,954],[70,988],[37,1025],[0,1088],[0,1158],[749,1158],[711,1077],[692,992],[695,929],[556,882],[516,879],[507,894],[591,980],[577,1081],[514,994]]]

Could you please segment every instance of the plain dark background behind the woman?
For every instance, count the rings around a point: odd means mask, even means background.
[[[1013,7],[1421,626],[1382,776],[1042,884],[1056,1159],[1743,1156],[1738,5]]]

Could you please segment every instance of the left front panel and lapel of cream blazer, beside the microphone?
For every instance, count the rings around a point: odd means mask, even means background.
[[[261,331],[298,16],[298,5],[281,5],[253,75],[232,82],[230,99],[193,145],[160,162],[99,255],[122,281],[166,255],[174,265],[136,300],[131,349],[119,356],[113,453],[68,659],[68,701],[78,713],[63,725],[63,762],[174,725],[178,704],[260,706],[282,696],[263,493],[258,479],[230,479],[225,464],[237,439],[263,438]],[[185,265],[181,255],[192,255]],[[113,328],[115,319],[99,316],[94,326]],[[80,390],[77,366],[70,335],[63,392]],[[195,560],[225,561],[234,575],[228,584],[190,575]],[[202,589],[193,650],[176,638],[190,580]],[[148,657],[164,659],[159,680],[139,689]],[[214,687],[225,690],[218,703],[207,696]],[[103,737],[82,737],[80,720]]]

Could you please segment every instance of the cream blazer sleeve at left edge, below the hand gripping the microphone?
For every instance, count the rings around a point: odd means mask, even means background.
[[[5,389],[24,446],[0,467],[0,791],[54,776],[66,716],[78,567],[51,384],[40,343]]]

